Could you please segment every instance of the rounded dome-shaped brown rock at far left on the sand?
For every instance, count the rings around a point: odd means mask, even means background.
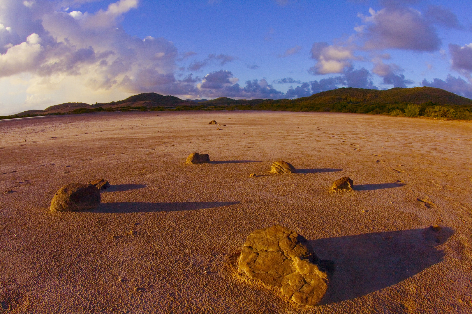
[[[100,200],[100,191],[95,185],[71,183],[61,187],[54,195],[51,211],[95,209]]]

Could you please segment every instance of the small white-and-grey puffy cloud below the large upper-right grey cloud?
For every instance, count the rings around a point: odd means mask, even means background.
[[[313,74],[342,73],[352,67],[352,60],[361,59],[354,56],[350,48],[328,45],[326,42],[313,43],[311,53],[312,59],[317,60],[309,70]]]

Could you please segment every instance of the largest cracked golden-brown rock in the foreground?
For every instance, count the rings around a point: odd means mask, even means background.
[[[253,231],[238,261],[240,273],[276,287],[296,303],[313,306],[328,288],[328,276],[303,236],[274,225]]]

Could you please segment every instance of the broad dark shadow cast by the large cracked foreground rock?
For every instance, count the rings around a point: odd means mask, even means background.
[[[357,298],[377,291],[435,265],[444,252],[436,246],[454,233],[431,228],[365,233],[312,240],[321,259],[334,262],[334,272],[322,304]]]

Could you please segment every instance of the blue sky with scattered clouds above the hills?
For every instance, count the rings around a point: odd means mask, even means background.
[[[472,98],[472,1],[0,0],[0,115],[156,92]]]

